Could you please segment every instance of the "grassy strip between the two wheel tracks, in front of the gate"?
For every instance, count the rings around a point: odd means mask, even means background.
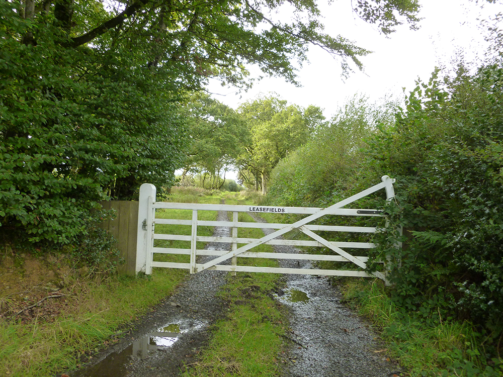
[[[246,276],[238,273],[225,288],[225,296],[234,302],[227,317],[215,325],[208,348],[183,376],[277,376],[277,357],[281,352],[281,334],[285,332],[279,304],[266,292],[246,285]],[[248,292],[243,294],[243,292]],[[238,298],[246,304],[236,305]]]

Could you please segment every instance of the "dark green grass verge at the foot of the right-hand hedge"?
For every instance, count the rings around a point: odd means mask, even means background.
[[[401,312],[386,296],[382,281],[344,280],[346,300],[382,330],[394,358],[411,377],[501,377],[503,360],[487,359],[482,336],[469,323],[441,321],[427,326]]]

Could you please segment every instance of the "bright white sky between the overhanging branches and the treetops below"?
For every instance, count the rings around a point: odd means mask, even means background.
[[[489,4],[485,0],[479,0],[478,5],[475,0],[420,0],[420,3],[419,16],[423,18],[420,30],[411,31],[403,25],[390,38],[358,19],[351,12],[350,0],[336,0],[330,6],[320,6],[327,34],[341,34],[358,46],[374,51],[361,59],[365,73],[354,72],[346,81],[341,78],[340,63],[313,46],[309,51],[310,63],[305,63],[299,72],[303,85],[300,88],[284,79],[265,78],[244,93],[216,84],[208,89],[216,100],[232,108],[253,100],[259,93],[274,92],[292,104],[318,106],[324,109],[327,118],[357,92],[368,95],[372,101],[379,101],[385,95],[401,100],[402,87],[408,92],[415,87],[418,77],[428,81],[435,66],[449,65],[457,50],[463,51],[468,62],[476,54],[483,53],[486,44],[477,18],[487,19],[503,12],[503,5]],[[483,10],[480,9],[482,4]]]

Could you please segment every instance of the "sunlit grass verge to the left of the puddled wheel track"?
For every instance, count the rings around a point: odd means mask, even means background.
[[[69,310],[53,323],[0,320],[0,375],[46,377],[74,368],[76,356],[113,341],[122,325],[170,295],[184,276],[165,270],[150,278],[75,282]]]

